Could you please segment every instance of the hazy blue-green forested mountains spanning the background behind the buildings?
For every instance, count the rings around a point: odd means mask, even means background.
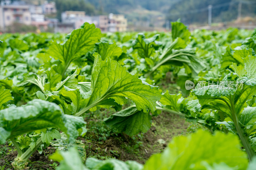
[[[212,5],[212,22],[227,22],[238,16],[238,3],[242,3],[241,15],[256,16],[255,0],[49,0],[56,2],[57,17],[67,10],[85,11],[86,15],[122,13],[131,23],[148,22],[152,18],[176,21],[185,24],[207,23],[208,6]]]

